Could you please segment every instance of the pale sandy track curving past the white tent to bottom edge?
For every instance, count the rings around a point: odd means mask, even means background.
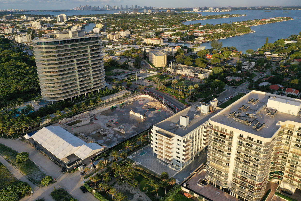
[[[76,171],[74,173],[61,172],[61,168],[58,167],[54,162],[51,162],[46,156],[38,152],[28,143],[20,140],[9,140],[0,138],[0,143],[17,150],[18,152],[29,152],[29,159],[40,166],[47,174],[51,175],[57,180],[56,183],[49,185],[48,187],[34,188],[35,192],[31,196],[26,196],[22,200],[34,201],[39,198],[44,198],[45,200],[53,200],[50,193],[53,191],[54,187],[64,187],[71,195],[73,195],[79,201],[92,200],[97,201],[91,193],[82,193],[79,189],[81,184],[80,172]],[[12,172],[14,174],[14,172]],[[17,174],[14,174],[18,177]],[[19,178],[19,177],[18,177]],[[20,179],[21,180],[21,179]],[[22,181],[22,180],[21,180]]]

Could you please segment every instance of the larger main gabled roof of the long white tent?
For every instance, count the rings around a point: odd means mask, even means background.
[[[86,144],[84,141],[64,130],[59,126],[44,127],[33,136],[37,143],[45,147],[49,152],[58,159],[66,157],[66,155],[74,148]]]

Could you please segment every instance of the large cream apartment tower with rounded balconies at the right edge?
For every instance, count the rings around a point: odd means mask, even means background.
[[[301,189],[301,100],[251,91],[209,119],[206,179],[243,201]]]

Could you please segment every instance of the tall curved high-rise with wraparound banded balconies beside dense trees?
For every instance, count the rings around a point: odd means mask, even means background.
[[[60,101],[104,88],[98,35],[80,30],[43,34],[33,40],[42,98]]]

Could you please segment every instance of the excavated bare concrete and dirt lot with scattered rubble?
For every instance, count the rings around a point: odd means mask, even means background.
[[[109,106],[98,113],[91,111],[92,120],[89,124],[75,127],[69,132],[84,133],[101,145],[111,147],[171,116],[171,113],[164,109],[159,102],[146,97],[136,96],[134,101],[133,99],[127,100],[124,106],[115,105],[117,106],[115,109],[111,109]],[[131,110],[145,115],[146,118],[141,119],[130,115]],[[94,113],[97,120],[94,119]]]

